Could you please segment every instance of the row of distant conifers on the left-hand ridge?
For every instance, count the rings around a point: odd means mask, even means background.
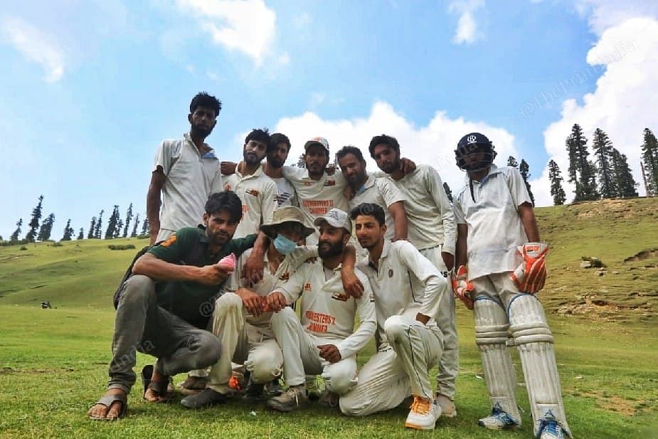
[[[121,216],[119,206],[115,204],[112,209],[112,216],[107,220],[107,227],[105,228],[105,235],[102,236],[103,231],[103,213],[105,210],[101,209],[97,216],[92,216],[87,233],[85,228],[78,229],[78,235],[75,235],[75,229],[71,225],[71,219],[68,218],[66,225],[63,229],[62,238],[60,240],[73,240],[78,239],[105,239],[114,238],[135,238],[141,235],[148,235],[149,222],[147,220],[140,221],[139,213],[134,215],[132,203],[128,206],[124,217]],[[30,222],[27,224],[26,234],[21,239],[23,233],[23,218],[18,219],[16,222],[16,229],[14,233],[9,236],[10,244],[17,243],[33,243],[36,241],[48,241],[53,239],[53,226],[55,224],[55,213],[50,213],[48,216],[41,219],[43,216],[43,195],[39,196],[35,208],[32,209]],[[140,224],[142,225],[141,233],[137,233]],[[132,227],[132,228],[131,228]],[[129,234],[129,231],[132,233]],[[0,237],[0,241],[2,238]]]

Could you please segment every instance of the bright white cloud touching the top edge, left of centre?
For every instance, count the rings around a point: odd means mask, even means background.
[[[213,41],[262,65],[275,37],[276,14],[262,0],[176,0]]]

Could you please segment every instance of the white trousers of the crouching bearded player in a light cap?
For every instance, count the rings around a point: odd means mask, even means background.
[[[309,334],[292,308],[272,314],[272,331],[283,350],[283,376],[288,386],[304,384],[306,375],[322,374],[327,390],[342,395],[356,384],[356,358],[329,363],[319,355],[322,344],[335,344]]]

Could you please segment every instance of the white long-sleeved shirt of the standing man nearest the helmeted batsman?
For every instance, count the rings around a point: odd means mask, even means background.
[[[408,238],[415,248],[423,250],[442,245],[442,251],[454,255],[457,240],[455,213],[436,169],[419,164],[397,181],[391,176],[386,178],[405,195]]]

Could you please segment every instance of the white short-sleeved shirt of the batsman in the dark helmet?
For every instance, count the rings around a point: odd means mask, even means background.
[[[528,242],[518,206],[531,203],[518,169],[492,164],[482,181],[467,183],[455,197],[457,223],[468,227],[468,276],[512,271],[522,262],[516,247]],[[475,201],[473,201],[473,197]]]

